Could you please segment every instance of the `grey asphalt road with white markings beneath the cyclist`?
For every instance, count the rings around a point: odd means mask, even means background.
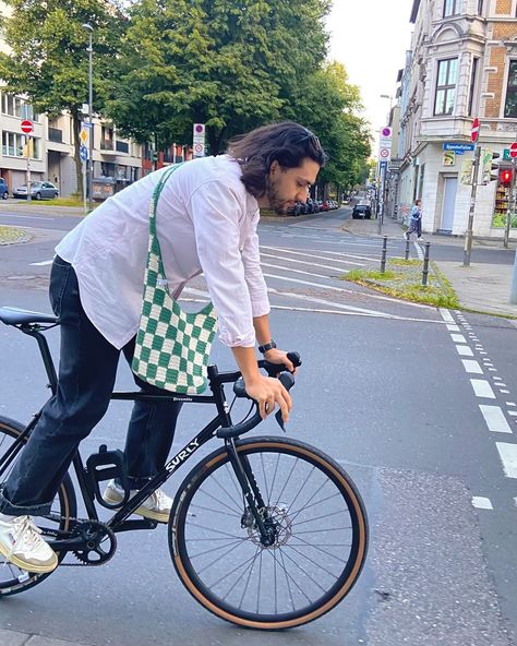
[[[502,319],[464,319],[344,283],[347,268],[378,258],[378,240],[339,230],[348,215],[264,223],[261,251],[275,338],[304,361],[288,434],[338,459],[368,506],[371,549],[352,593],[301,629],[267,636],[239,630],[183,590],[159,527],[122,535],[103,567],[61,567],[2,599],[0,627],[93,646],[516,644],[517,331]],[[51,259],[72,222],[60,217],[32,242],[1,249],[2,303],[48,311],[49,265],[33,263]],[[390,244],[401,253],[402,240]],[[203,282],[185,297],[203,300]],[[56,331],[49,339],[56,349]],[[27,420],[47,396],[36,345],[2,326],[0,348],[0,414]],[[231,366],[218,344],[213,360]],[[119,385],[131,385],[125,366]],[[175,446],[207,416],[185,406]],[[121,446],[128,417],[128,405],[113,404],[85,454],[103,442]],[[273,420],[260,431],[279,432]]]

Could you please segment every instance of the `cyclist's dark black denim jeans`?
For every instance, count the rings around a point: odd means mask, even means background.
[[[75,272],[59,256],[50,275],[50,302],[61,321],[58,391],[0,491],[0,512],[14,516],[50,512],[79,443],[108,408],[120,356],[86,316]],[[122,348],[130,362],[133,350],[134,338]],[[145,392],[163,392],[134,380]],[[180,408],[180,402],[134,403],[124,448],[132,488],[143,487],[164,466]]]

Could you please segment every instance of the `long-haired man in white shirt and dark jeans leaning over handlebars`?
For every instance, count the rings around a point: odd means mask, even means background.
[[[254,351],[293,370],[269,331],[269,303],[260,267],[258,208],[284,214],[304,202],[325,155],[317,137],[298,123],[258,128],[237,137],[226,155],[184,164],[165,184],[157,232],[170,294],[204,273],[218,313],[219,338],[232,349],[248,394],[262,417],[278,405],[285,421],[291,398],[276,379],[258,372]],[[105,415],[120,351],[131,362],[142,304],[148,241],[148,205],[166,169],[107,200],[56,248],[50,301],[61,327],[59,385],[0,490],[0,552],[23,570],[45,573],[58,563],[33,515],[50,512],[79,443]],[[156,387],[136,375],[145,392]],[[131,490],[165,464],[181,404],[135,402],[125,442]],[[122,502],[117,481],[104,494]],[[160,490],[136,513],[167,523],[172,501]]]

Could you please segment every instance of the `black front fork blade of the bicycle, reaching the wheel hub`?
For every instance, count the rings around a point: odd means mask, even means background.
[[[247,456],[239,456],[233,439],[225,440],[225,445],[233,472],[241,486],[243,499],[248,504],[248,507],[243,510],[241,525],[250,527],[254,522],[261,535],[261,543],[264,547],[269,547],[275,542],[276,530],[267,516],[266,503],[258,490],[250,460]]]

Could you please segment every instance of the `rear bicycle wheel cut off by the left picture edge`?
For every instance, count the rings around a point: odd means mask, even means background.
[[[8,445],[5,445],[5,440],[8,438],[15,440],[22,434],[24,429],[24,424],[8,417],[0,417],[0,452],[2,455],[5,454],[12,445],[11,442],[7,442]],[[69,529],[70,518],[77,515],[75,491],[69,474],[64,476],[64,479],[61,482],[55,503],[52,504],[52,514],[58,514],[61,517],[61,522],[59,523],[59,529],[61,530]],[[46,535],[45,529],[43,530],[43,535]],[[61,563],[65,555],[67,552],[58,552],[58,563]],[[1,554],[0,559],[0,597],[8,597],[23,593],[41,583],[47,576],[50,576],[52,572],[56,572],[56,570],[53,570],[46,574],[28,573],[19,570],[13,564],[5,563]],[[5,564],[5,567],[1,566],[3,564]],[[16,571],[20,573],[19,575],[16,575]],[[10,577],[5,578],[5,575]]]

